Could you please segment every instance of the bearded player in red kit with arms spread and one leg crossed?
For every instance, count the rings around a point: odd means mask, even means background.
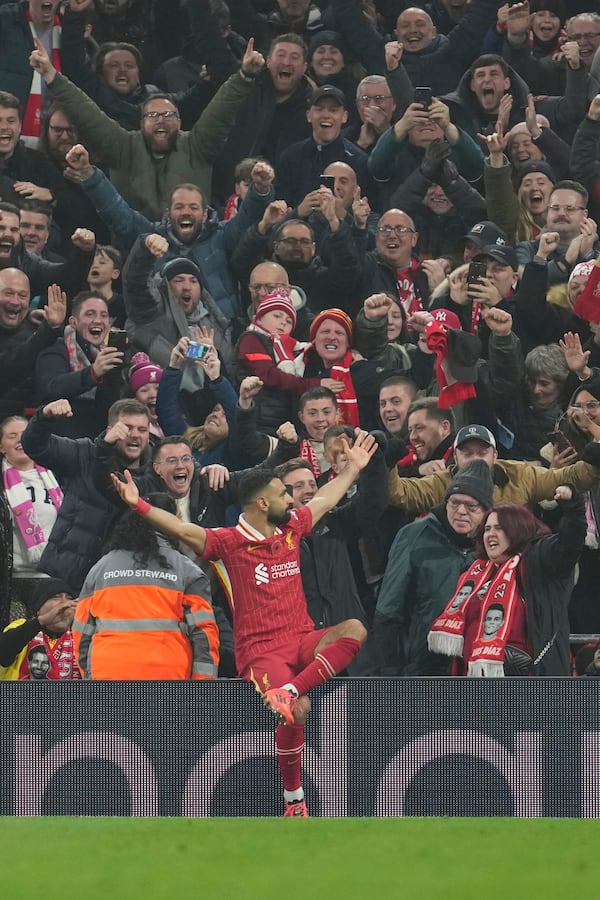
[[[342,499],[377,448],[357,429],[354,445],[342,438],[346,468],[306,506],[292,498],[270,469],[254,469],[239,487],[242,514],[231,528],[202,528],[140,499],[128,470],[112,476],[121,499],[157,528],[184,541],[205,559],[222,560],[230,602],[238,672],[254,684],[277,720],[275,749],[286,816],[307,817],[301,781],[306,696],[341,672],[360,650],[366,631],[358,619],[316,631],[306,609],[300,574],[300,541]]]

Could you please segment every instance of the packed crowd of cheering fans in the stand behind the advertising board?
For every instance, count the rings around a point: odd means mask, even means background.
[[[348,672],[599,675],[600,4],[23,0],[0,48],[0,678],[235,676],[226,572],[111,473],[218,528],[358,429],[300,547]]]

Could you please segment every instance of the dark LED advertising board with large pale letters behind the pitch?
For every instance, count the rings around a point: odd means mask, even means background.
[[[336,679],[307,726],[311,814],[597,817],[599,686]],[[282,813],[242,682],[2,682],[0,709],[0,815]]]

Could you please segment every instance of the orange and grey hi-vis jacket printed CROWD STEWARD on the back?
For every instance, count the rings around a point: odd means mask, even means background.
[[[89,571],[72,626],[84,678],[217,677],[208,578],[160,536],[159,544],[162,561],[140,563],[128,550],[113,550]]]

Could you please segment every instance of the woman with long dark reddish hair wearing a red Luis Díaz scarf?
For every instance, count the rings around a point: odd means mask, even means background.
[[[453,674],[570,675],[567,610],[586,521],[571,486],[559,485],[554,499],[556,534],[514,503],[485,515],[477,559],[429,632],[432,652],[456,658]],[[472,590],[461,594],[467,581]]]

